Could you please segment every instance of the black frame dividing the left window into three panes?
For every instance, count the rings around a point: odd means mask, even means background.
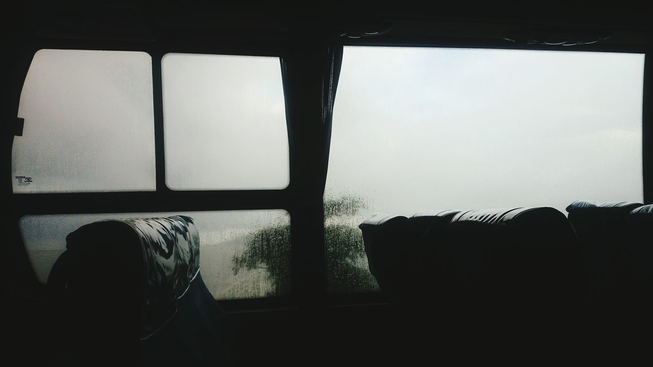
[[[162,47],[144,47],[142,44],[125,44],[115,42],[85,42],[85,41],[61,41],[48,40],[46,42],[35,42],[35,44],[23,45],[20,53],[25,56],[22,59],[24,75],[20,80],[18,89],[18,100],[22,91],[27,71],[31,66],[33,56],[42,49],[58,50],[103,50],[103,51],[135,51],[145,52],[151,57],[152,82],[153,82],[153,109],[154,109],[154,140],[155,140],[155,179],[156,189],[154,191],[110,191],[110,192],[79,192],[79,193],[13,193],[9,186],[8,197],[8,223],[13,227],[9,232],[9,241],[14,247],[16,257],[20,263],[22,274],[18,276],[18,287],[25,289],[25,293],[35,298],[46,297],[46,286],[37,281],[31,268],[31,263],[25,244],[20,233],[18,223],[25,215],[42,214],[111,214],[129,212],[201,212],[201,211],[226,211],[226,210],[285,210],[290,215],[291,221],[291,248],[292,257],[295,259],[295,247],[292,244],[302,242],[301,238],[295,238],[293,233],[301,232],[295,229],[293,218],[300,217],[295,197],[302,197],[298,191],[298,185],[293,185],[293,174],[289,184],[283,189],[230,189],[230,190],[173,190],[168,188],[165,182],[165,146],[163,127],[163,88],[162,88],[162,64],[165,54],[206,54],[206,55],[232,55],[232,56],[268,56],[279,57],[285,54],[283,45],[256,46],[178,46],[167,45]],[[279,65],[281,71],[281,65]],[[19,77],[20,78],[20,77]],[[15,92],[16,90],[14,90]],[[17,111],[16,111],[17,112]],[[14,114],[16,113],[14,112]],[[26,121],[25,123],[29,123]],[[293,172],[293,153],[291,148],[291,131],[289,124],[289,170]],[[13,136],[10,136],[13,140]],[[8,150],[8,168],[11,172],[11,146]],[[299,154],[300,155],[300,154]],[[5,156],[7,159],[7,156]],[[11,183],[11,182],[9,182]],[[6,192],[6,191],[5,191]],[[296,285],[300,284],[300,272],[294,269],[294,261],[291,262],[291,279],[293,289],[287,296],[271,298],[245,298],[238,300],[221,300],[221,306],[225,310],[259,310],[262,308],[295,308],[298,303]]]

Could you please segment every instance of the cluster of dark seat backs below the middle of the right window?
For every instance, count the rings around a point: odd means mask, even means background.
[[[370,271],[393,300],[549,302],[582,287],[575,232],[554,208],[375,214],[360,229]]]

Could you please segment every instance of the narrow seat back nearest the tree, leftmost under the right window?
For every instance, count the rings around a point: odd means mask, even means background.
[[[406,221],[402,215],[376,213],[358,226],[362,231],[370,272],[388,297],[392,297],[394,285],[402,282],[395,276],[406,274],[409,257]]]

